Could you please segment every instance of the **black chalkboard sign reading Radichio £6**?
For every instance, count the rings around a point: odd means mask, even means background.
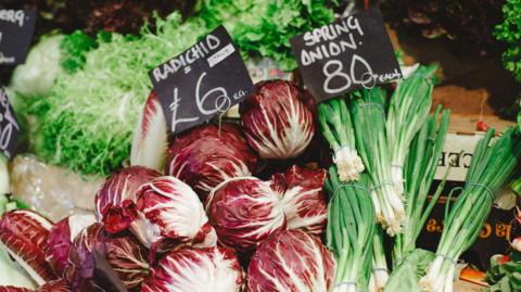
[[[241,53],[224,26],[149,76],[174,134],[226,112],[253,90]]]

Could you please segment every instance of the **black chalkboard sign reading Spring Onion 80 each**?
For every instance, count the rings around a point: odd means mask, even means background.
[[[402,78],[376,8],[291,39],[305,85],[318,101]]]

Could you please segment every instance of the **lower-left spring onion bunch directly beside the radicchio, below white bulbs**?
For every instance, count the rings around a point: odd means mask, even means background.
[[[330,167],[326,181],[331,195],[326,237],[336,259],[334,292],[365,291],[369,284],[377,225],[368,186],[367,175],[360,175],[357,182],[343,183],[336,167]]]

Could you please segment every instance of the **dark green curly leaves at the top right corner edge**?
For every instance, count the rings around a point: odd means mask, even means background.
[[[503,15],[504,22],[496,26],[494,35],[508,45],[503,62],[516,79],[521,81],[521,0],[507,0]]]

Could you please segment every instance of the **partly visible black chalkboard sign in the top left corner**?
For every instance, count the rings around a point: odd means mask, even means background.
[[[0,65],[17,65],[25,62],[35,23],[34,11],[0,10]]]

